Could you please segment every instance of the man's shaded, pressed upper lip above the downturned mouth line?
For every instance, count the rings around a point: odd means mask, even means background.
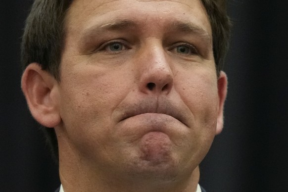
[[[122,111],[123,116],[121,118],[121,121],[144,113],[161,113],[172,116],[186,126],[188,126],[188,119],[185,111],[186,110],[183,110],[183,108],[180,108],[178,105],[173,104],[173,102],[167,100],[163,102],[142,101],[139,103],[133,103],[131,105],[125,106],[125,109]]]

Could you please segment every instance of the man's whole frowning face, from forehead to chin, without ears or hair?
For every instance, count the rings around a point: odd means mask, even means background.
[[[200,1],[74,0],[65,22],[60,158],[70,150],[98,173],[191,173],[220,113]]]

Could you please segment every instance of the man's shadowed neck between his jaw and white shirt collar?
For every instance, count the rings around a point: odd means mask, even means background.
[[[189,178],[170,181],[161,179],[151,181],[146,178],[141,181],[134,178],[129,180],[126,177],[93,174],[91,170],[82,169],[81,166],[78,166],[77,171],[65,167],[60,165],[59,168],[65,192],[195,192],[199,181],[198,167],[193,170]]]

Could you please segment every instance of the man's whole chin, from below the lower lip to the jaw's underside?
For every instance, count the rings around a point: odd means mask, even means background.
[[[123,163],[134,179],[168,182],[192,172],[189,161],[184,160],[187,157],[181,155],[179,148],[162,132],[145,134],[137,147],[129,151],[130,158]]]

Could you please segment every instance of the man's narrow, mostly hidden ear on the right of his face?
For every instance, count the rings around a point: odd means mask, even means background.
[[[216,135],[220,134],[223,129],[224,124],[224,102],[227,96],[227,76],[223,71],[220,72],[220,76],[217,81],[218,85],[218,117],[217,117],[217,127],[216,127]]]

